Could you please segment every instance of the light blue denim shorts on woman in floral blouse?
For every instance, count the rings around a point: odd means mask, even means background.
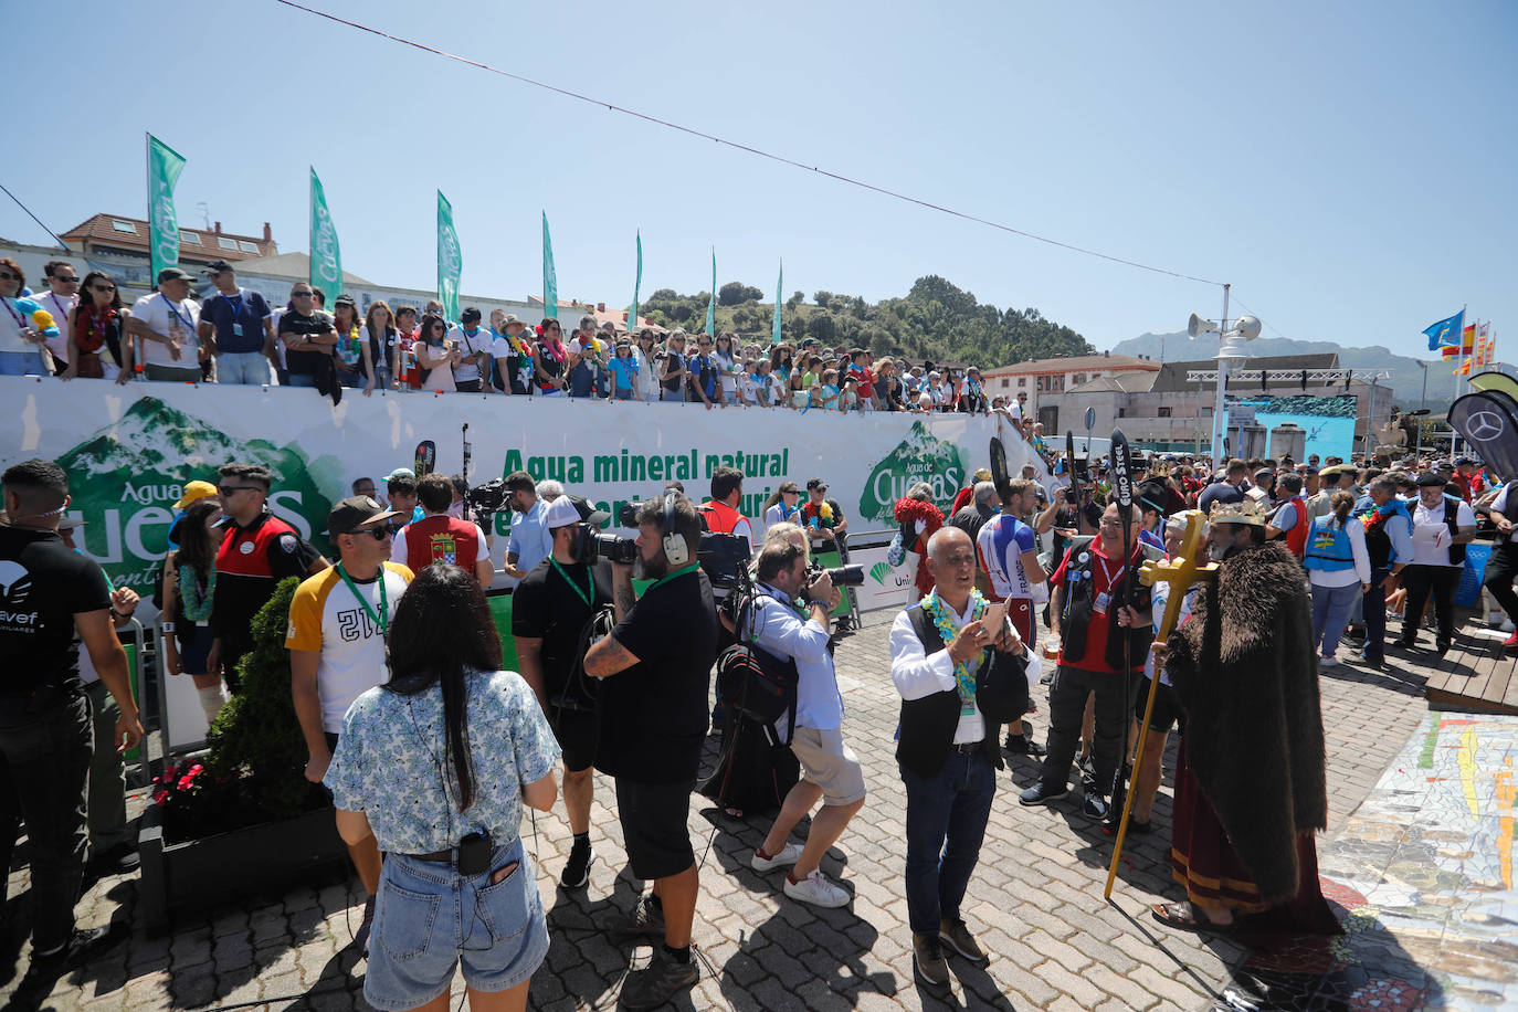
[[[516,862],[502,882],[495,871]],[[490,871],[472,878],[452,866],[386,854],[364,974],[364,1000],[399,1012],[448,991],[463,962],[465,983],[507,991],[548,956],[548,922],[533,860],[518,838],[496,847]]]

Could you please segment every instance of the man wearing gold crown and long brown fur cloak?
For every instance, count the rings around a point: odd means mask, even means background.
[[[1187,897],[1154,916],[1246,944],[1334,935],[1313,841],[1328,798],[1302,567],[1266,542],[1260,504],[1219,502],[1208,519],[1217,578],[1154,648],[1186,712],[1170,866]]]

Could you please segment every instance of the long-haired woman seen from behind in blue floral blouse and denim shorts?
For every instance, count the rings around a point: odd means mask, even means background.
[[[343,718],[325,783],[337,830],[384,851],[364,998],[446,1009],[460,960],[471,1009],[525,1009],[548,924],[522,803],[548,812],[559,743],[475,578],[417,574],[390,622],[390,680]]]

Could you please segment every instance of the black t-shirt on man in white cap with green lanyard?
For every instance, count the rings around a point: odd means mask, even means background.
[[[545,558],[522,577],[522,583],[512,592],[512,636],[543,640],[543,687],[550,699],[565,689],[574,668],[574,655],[580,649],[584,624],[597,608],[612,604],[610,563],[604,560],[595,566],[560,563],[560,567],[563,572],[554,569],[553,561]],[[565,581],[565,574],[574,587]],[[581,596],[587,580],[591,604]]]

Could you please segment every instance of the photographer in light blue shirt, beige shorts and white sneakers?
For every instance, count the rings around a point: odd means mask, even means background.
[[[761,872],[794,865],[785,877],[785,895],[820,907],[841,907],[849,894],[827,882],[818,865],[864,807],[865,795],[859,759],[844,745],[844,699],[827,645],[827,616],[842,595],[826,570],[808,581],[806,554],[789,542],[764,546],[756,577],[753,643],[795,665],[795,727],[789,746],[803,777],[785,795],[780,815],[750,863]],[[808,610],[805,621],[794,610],[797,601]],[[812,818],[806,847],[788,844],[791,830],[818,801],[823,810]]]

